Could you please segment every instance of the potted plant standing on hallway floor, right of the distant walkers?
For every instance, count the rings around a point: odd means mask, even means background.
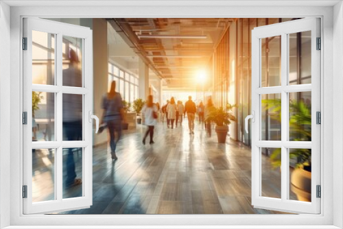
[[[235,105],[227,104],[224,108],[213,108],[205,121],[213,121],[215,123],[215,132],[217,133],[218,143],[225,143],[228,134],[228,125],[231,121],[236,121],[236,117],[231,114]]]

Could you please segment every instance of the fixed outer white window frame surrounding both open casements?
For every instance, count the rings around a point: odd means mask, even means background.
[[[69,1],[68,3],[70,3]],[[1,49],[10,50],[12,60],[10,67],[2,66],[0,73],[10,73],[10,82],[3,80],[3,75],[0,74],[1,84],[10,87],[10,99],[8,95],[1,96],[1,107],[10,108],[10,112],[1,110],[1,117],[9,118],[10,125],[3,125],[11,129],[10,131],[10,147],[8,144],[0,145],[1,147],[1,180],[0,180],[0,197],[1,197],[1,226],[10,226],[11,228],[19,228],[16,226],[32,226],[42,225],[41,228],[49,228],[49,225],[64,225],[61,228],[70,228],[65,225],[77,226],[77,225],[94,225],[96,221],[99,225],[132,225],[131,228],[140,228],[140,226],[148,226],[148,228],[161,228],[163,225],[183,225],[174,226],[174,228],[194,228],[192,225],[206,225],[202,228],[234,228],[235,225],[250,225],[246,228],[266,228],[266,225],[270,225],[271,228],[281,228],[281,225],[288,225],[288,228],[314,228],[314,225],[319,225],[318,228],[338,228],[343,226],[342,221],[342,152],[343,133],[342,126],[343,121],[341,114],[343,106],[340,103],[342,98],[342,86],[343,82],[340,79],[342,75],[340,67],[343,62],[343,19],[342,19],[342,5],[338,1],[316,1],[317,6],[309,6],[309,1],[294,1],[283,2],[278,6],[268,6],[265,1],[255,1],[254,6],[250,6],[249,1],[230,1],[228,5],[223,3],[217,3],[216,1],[204,1],[196,3],[196,1],[188,1],[188,5],[182,5],[186,1],[171,3],[170,1],[160,2],[162,6],[172,5],[173,7],[158,7],[151,6],[147,2],[142,1],[141,5],[130,5],[130,2],[123,3],[115,6],[104,6],[95,8],[93,6],[84,6],[73,8],[67,6],[46,6],[46,7],[17,7],[8,12],[8,6],[5,3],[1,3],[1,13],[5,11],[5,14],[1,14],[1,24],[7,25],[8,19],[10,19],[10,30],[8,27],[1,27],[5,29],[5,34],[1,34],[0,38],[5,38],[8,47]],[[8,1],[8,3],[11,3]],[[26,1],[25,4],[33,2]],[[56,3],[56,2],[55,2]],[[60,1],[61,4],[67,4],[65,1]],[[154,2],[154,4],[157,2]],[[338,3],[335,8],[332,5]],[[54,4],[51,3],[51,4]],[[79,3],[83,4],[83,3]],[[99,3],[101,4],[101,3]],[[113,3],[115,4],[115,3]],[[119,4],[119,3],[117,3]],[[127,5],[126,5],[127,4]],[[192,5],[193,4],[193,5]],[[200,4],[200,6],[199,6]],[[273,2],[273,4],[277,4]],[[297,5],[292,5],[297,4]],[[321,6],[320,6],[321,4]],[[328,5],[331,4],[331,5]],[[143,6],[142,6],[143,5]],[[145,5],[145,6],[144,6]],[[214,5],[214,6],[213,6]],[[241,6],[237,6],[241,5]],[[243,6],[242,6],[243,5]],[[288,6],[285,6],[288,5]],[[289,6],[290,5],[290,6]],[[305,6],[299,6],[305,5]],[[21,170],[22,165],[22,145],[18,144],[22,142],[21,138],[18,138],[22,130],[20,123],[21,120],[21,96],[22,96],[22,73],[18,66],[22,66],[21,62],[21,21],[23,16],[41,16],[41,17],[88,17],[88,18],[106,18],[106,17],[304,17],[304,16],[318,16],[322,19],[322,56],[321,63],[322,82],[322,152],[325,155],[321,160],[323,166],[321,167],[322,174],[322,213],[320,215],[23,215],[22,199],[21,199]],[[3,21],[3,17],[5,21]],[[333,21],[333,18],[335,21]],[[6,21],[7,20],[7,21]],[[2,31],[1,31],[2,32]],[[9,35],[10,34],[10,35]],[[10,37],[10,41],[9,38]],[[335,45],[335,49],[333,49]],[[0,62],[8,62],[8,53],[0,53]],[[333,58],[335,57],[335,58]],[[335,74],[333,74],[335,73]],[[7,76],[8,77],[8,76]],[[324,82],[325,79],[325,82]],[[337,80],[333,84],[333,80]],[[0,85],[1,85],[0,84]],[[3,88],[3,85],[1,85]],[[333,97],[332,91],[335,90],[337,94]],[[19,92],[19,93],[18,93]],[[336,95],[338,95],[336,97]],[[7,96],[7,97],[3,97]],[[6,99],[8,101],[6,101]],[[333,107],[332,101],[337,103]],[[11,104],[11,105],[10,105]],[[334,113],[333,110],[338,113]],[[3,113],[5,112],[5,113]],[[337,117],[335,125],[333,125],[333,117]],[[1,121],[3,124],[4,122]],[[8,129],[1,127],[1,137],[8,134]],[[333,133],[335,132],[335,136]],[[1,138],[2,139],[2,138]],[[8,139],[8,138],[7,138]],[[333,143],[333,140],[335,142]],[[3,144],[3,141],[1,142]],[[333,146],[338,152],[333,152]],[[3,149],[10,149],[10,156],[8,152],[3,152]],[[3,160],[5,159],[5,160]],[[10,161],[10,163],[9,163]],[[7,178],[8,174],[4,174],[6,171],[10,171],[10,179]],[[333,183],[333,171],[335,171],[335,183]],[[20,178],[20,179],[18,179]],[[8,198],[10,195],[10,198]],[[335,201],[333,201],[335,198]],[[8,200],[10,199],[10,200]],[[4,205],[3,205],[4,204]],[[8,211],[10,209],[10,211]],[[149,226],[150,225],[150,226]],[[160,226],[158,226],[160,225]],[[161,226],[162,225],[162,226]],[[260,225],[260,226],[259,226]],[[263,226],[261,226],[263,225]],[[336,225],[338,227],[335,227]],[[98,228],[94,226],[93,228]],[[25,227],[21,227],[25,228]],[[38,227],[35,227],[38,228]],[[113,228],[122,228],[115,227]],[[282,227],[285,228],[285,227]]]

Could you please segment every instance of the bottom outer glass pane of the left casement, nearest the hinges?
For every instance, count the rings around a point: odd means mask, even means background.
[[[32,149],[32,202],[55,200],[55,149]]]

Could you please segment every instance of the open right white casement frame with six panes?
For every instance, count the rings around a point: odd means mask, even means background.
[[[289,84],[289,34],[311,32],[311,84]],[[280,36],[281,43],[281,85],[263,86],[262,43],[263,38]],[[252,30],[252,205],[257,208],[285,210],[291,213],[320,213],[320,199],[316,197],[316,185],[320,185],[320,127],[316,124],[316,112],[320,112],[320,51],[316,50],[316,38],[320,37],[320,21],[316,18],[299,19],[273,25],[265,25]],[[311,92],[311,136],[312,141],[289,141],[289,93]],[[281,97],[281,140],[261,140],[261,99],[262,95],[279,94]],[[261,195],[262,164],[261,149],[272,147],[281,149],[281,197]],[[289,200],[289,150],[311,149],[311,202]]]

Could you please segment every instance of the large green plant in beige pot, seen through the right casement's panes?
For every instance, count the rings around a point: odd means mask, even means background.
[[[279,104],[274,109],[280,110],[279,101],[270,101],[268,104]],[[280,100],[280,99],[278,99]],[[264,102],[263,102],[264,103]],[[303,101],[289,103],[289,139],[291,141],[311,141],[311,108]],[[274,119],[281,121],[281,115]],[[289,160],[296,160],[292,171],[290,189],[296,194],[298,200],[311,202],[311,149],[290,149]],[[281,167],[281,149],[274,149],[270,155],[273,167]]]

